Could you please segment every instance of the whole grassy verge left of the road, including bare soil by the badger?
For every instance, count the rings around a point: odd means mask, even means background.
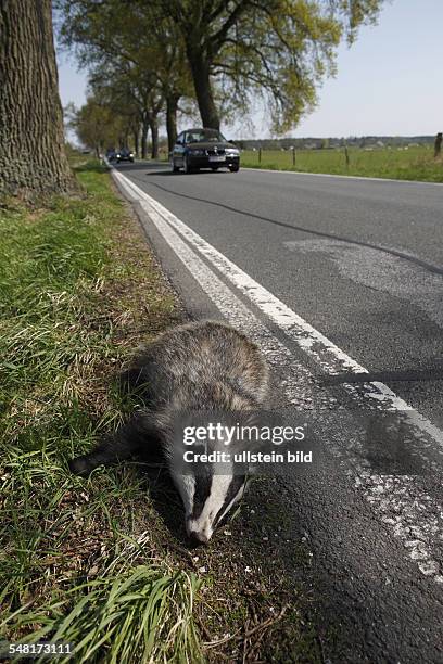
[[[319,662],[289,576],[307,553],[280,556],[281,514],[245,513],[265,481],[192,552],[159,469],[68,472],[134,408],[115,380],[134,348],[183,318],[109,174],[77,175],[81,196],[0,209],[0,641],[71,641],[79,663]]]

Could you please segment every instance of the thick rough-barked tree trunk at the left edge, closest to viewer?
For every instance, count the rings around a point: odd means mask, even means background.
[[[64,150],[51,0],[0,0],[0,195],[76,188]]]

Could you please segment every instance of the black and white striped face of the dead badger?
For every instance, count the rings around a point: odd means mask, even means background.
[[[243,496],[245,475],[178,475],[174,482],[181,496],[186,531],[191,539],[206,544],[217,525]]]

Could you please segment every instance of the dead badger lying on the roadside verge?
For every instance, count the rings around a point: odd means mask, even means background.
[[[183,427],[195,431],[207,418],[218,423],[248,422],[266,397],[266,361],[243,333],[205,320],[160,335],[143,348],[127,375],[129,384],[142,391],[142,408],[90,454],[73,459],[69,468],[87,475],[102,464],[132,456],[143,459],[151,446],[160,445],[185,507],[187,534],[206,544],[242,497],[249,476],[246,470],[233,472],[229,463],[223,472],[215,463],[185,469],[177,462],[182,458]],[[205,440],[204,451],[220,450],[226,444],[218,432],[215,439]]]

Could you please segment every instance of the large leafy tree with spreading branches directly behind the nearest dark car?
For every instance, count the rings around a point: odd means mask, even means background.
[[[154,0],[155,1],[155,0]],[[205,127],[219,128],[214,80],[232,104],[261,94],[283,132],[316,103],[336,47],[375,22],[382,0],[156,0],[181,31]],[[145,2],[139,0],[140,9]]]

